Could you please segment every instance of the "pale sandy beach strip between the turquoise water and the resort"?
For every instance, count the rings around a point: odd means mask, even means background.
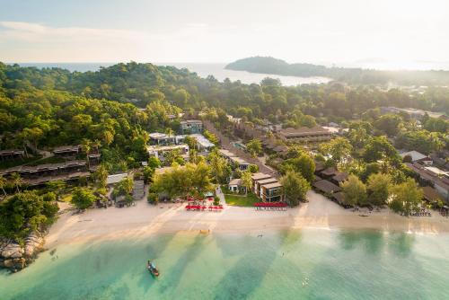
[[[198,232],[224,234],[263,234],[278,230],[350,229],[401,231],[416,234],[449,233],[449,220],[433,216],[399,216],[390,209],[359,216],[360,212],[339,207],[314,191],[308,203],[286,211],[256,211],[252,207],[229,207],[223,212],[191,212],[184,205],[152,206],[137,201],[135,207],[96,208],[83,214],[70,211],[59,216],[46,237],[46,249],[60,244],[143,239],[157,234]]]

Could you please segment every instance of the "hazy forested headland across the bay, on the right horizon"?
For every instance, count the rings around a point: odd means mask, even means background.
[[[242,58],[225,68],[272,75],[323,76],[348,84],[449,85],[449,71],[383,71],[312,64],[288,64],[286,61],[274,57]]]

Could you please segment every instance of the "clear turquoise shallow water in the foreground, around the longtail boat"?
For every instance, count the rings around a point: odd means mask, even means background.
[[[441,234],[312,229],[77,243],[0,274],[0,298],[447,299],[448,246]]]

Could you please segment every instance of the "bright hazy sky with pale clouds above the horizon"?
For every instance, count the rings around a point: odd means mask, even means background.
[[[0,0],[0,8],[4,62],[449,62],[446,0]]]

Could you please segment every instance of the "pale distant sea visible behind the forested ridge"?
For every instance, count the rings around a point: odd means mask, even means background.
[[[97,71],[101,66],[112,66],[114,63],[20,63],[20,66],[36,66],[42,67],[60,67],[69,71],[87,72]],[[225,78],[231,81],[240,80],[242,84],[260,84],[260,81],[266,77],[277,78],[281,84],[286,86],[295,86],[298,84],[326,84],[330,82],[330,78],[326,77],[296,77],[282,75],[256,74],[246,71],[226,70],[226,64],[201,64],[201,63],[157,63],[158,66],[176,66],[178,68],[188,68],[189,71],[195,72],[198,76],[206,78],[213,75],[220,82]]]

